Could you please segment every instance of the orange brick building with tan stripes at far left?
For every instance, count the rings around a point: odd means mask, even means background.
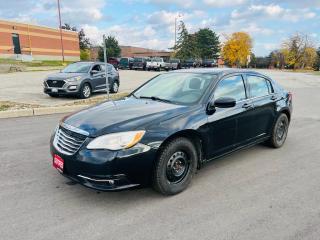
[[[62,31],[66,61],[80,60],[77,32]],[[0,20],[0,58],[62,60],[59,29]]]

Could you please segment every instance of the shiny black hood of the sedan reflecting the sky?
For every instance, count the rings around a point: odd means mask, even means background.
[[[64,123],[96,137],[112,132],[147,129],[188,111],[190,107],[152,100],[125,98],[104,102],[66,117]]]

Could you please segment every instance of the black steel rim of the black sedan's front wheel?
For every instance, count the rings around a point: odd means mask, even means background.
[[[186,153],[182,151],[175,152],[167,163],[166,175],[170,183],[179,183],[187,175],[190,167],[190,161]]]

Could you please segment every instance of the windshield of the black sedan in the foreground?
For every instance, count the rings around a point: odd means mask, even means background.
[[[213,74],[167,73],[162,74],[136,90],[136,98],[150,98],[182,105],[197,103],[210,83],[217,78]]]

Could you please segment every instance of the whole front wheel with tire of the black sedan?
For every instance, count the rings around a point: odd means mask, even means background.
[[[164,195],[185,190],[197,170],[198,154],[184,137],[173,139],[161,150],[154,166],[153,188]]]

